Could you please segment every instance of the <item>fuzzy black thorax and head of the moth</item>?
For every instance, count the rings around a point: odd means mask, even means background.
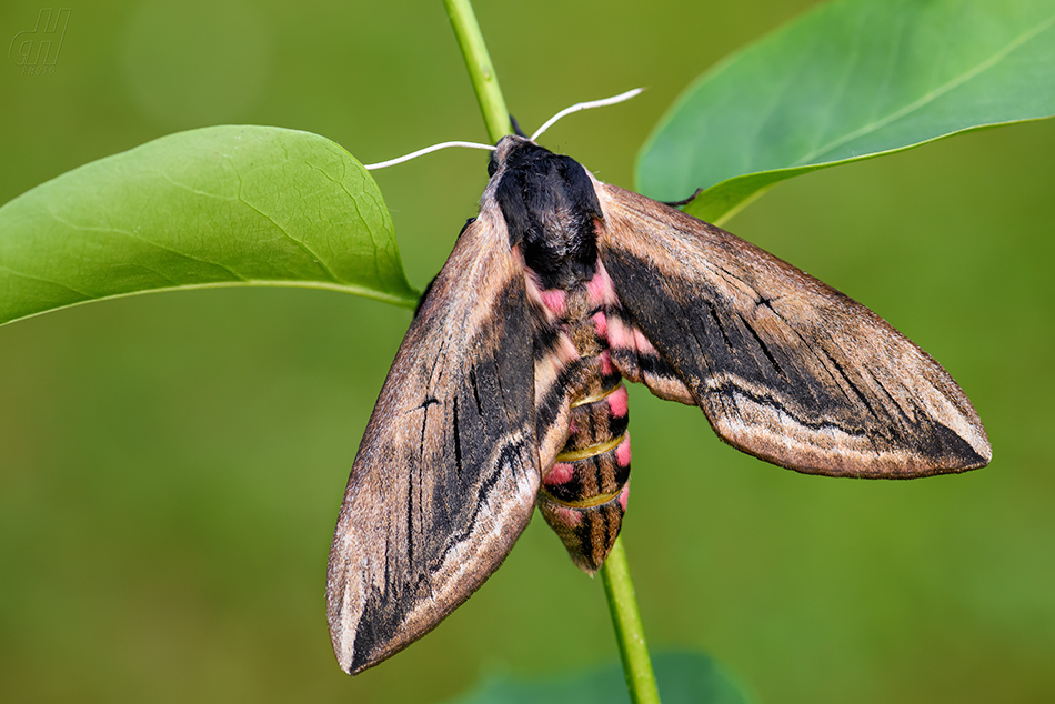
[[[494,198],[524,261],[543,288],[569,289],[593,278],[601,205],[582,164],[534,142],[499,142],[489,169]]]

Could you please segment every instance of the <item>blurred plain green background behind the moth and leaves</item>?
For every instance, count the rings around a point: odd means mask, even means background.
[[[674,97],[811,2],[509,2],[476,12],[526,129],[632,187]],[[298,128],[365,162],[485,140],[432,2],[72,4],[53,76],[0,59],[0,202],[219,123]],[[40,4],[0,7],[0,40]],[[448,151],[386,170],[411,281],[486,181]],[[729,225],[873,308],[952,372],[993,464],[806,477],[632,389],[624,537],[651,643],[763,702],[1055,700],[1055,122],[956,137],[776,188]],[[307,290],[135,296],[0,328],[0,700],[435,702],[482,674],[611,661],[599,580],[535,520],[436,631],[355,678],[323,603],[333,522],[410,313]],[[557,605],[557,607],[554,607]]]

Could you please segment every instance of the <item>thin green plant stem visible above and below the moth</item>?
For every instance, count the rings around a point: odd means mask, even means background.
[[[476,23],[476,16],[470,0],[443,0],[443,4],[446,6],[448,17],[451,18],[451,26],[458,37],[458,46],[465,59],[465,68],[469,69],[469,78],[473,90],[476,91],[476,101],[488,125],[488,134],[492,142],[498,142],[506,134],[512,134],[513,130],[505,99],[499,88],[499,77],[491,64],[491,57],[488,56],[488,47],[480,32],[480,24]],[[612,625],[615,627],[630,698],[633,704],[660,704],[655,674],[652,672],[652,661],[645,645],[645,631],[641,625],[641,614],[634,600],[634,585],[630,581],[630,567],[621,540],[615,541],[609,559],[601,567],[601,579],[609,600],[609,611],[612,613]]]

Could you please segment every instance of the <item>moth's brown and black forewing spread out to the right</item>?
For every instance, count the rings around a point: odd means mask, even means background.
[[[988,463],[966,395],[886,321],[724,230],[631,191],[595,189],[601,260],[633,328],[622,338],[637,339],[644,366],[676,375],[723,440],[837,476]]]

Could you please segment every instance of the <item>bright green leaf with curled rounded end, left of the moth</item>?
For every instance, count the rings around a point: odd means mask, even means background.
[[[373,179],[308,132],[181,132],[0,208],[0,323],[118,295],[240,284],[406,306],[418,298]]]

